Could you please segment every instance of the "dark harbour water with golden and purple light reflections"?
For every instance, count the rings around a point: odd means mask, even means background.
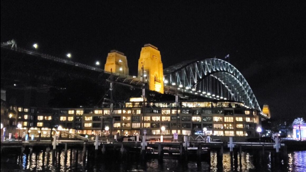
[[[52,152],[50,152],[52,154]],[[306,171],[306,151],[293,151],[288,152],[288,163],[282,162],[280,165],[275,166],[271,163],[271,153],[266,152],[265,158],[258,163],[256,157],[252,152],[242,152],[242,167],[231,167],[230,153],[224,152],[223,154],[223,167],[217,165],[217,152],[211,151],[211,162],[196,162],[196,161],[182,161],[176,157],[165,155],[162,162],[155,158],[147,158],[145,161],[141,160],[137,155],[130,155],[126,158],[120,159],[119,157],[98,157],[95,159],[86,159],[83,164],[82,151],[76,155],[73,150],[70,154],[68,150],[68,160],[64,163],[64,153],[60,156],[60,161],[52,165],[51,155],[50,158],[45,159],[44,166],[42,160],[42,152],[33,152],[32,156],[26,157],[23,154],[22,162],[18,156],[1,155],[1,171],[94,171],[94,172],[142,172],[142,171],[156,171],[156,172],[192,172],[192,171],[288,171],[288,172],[304,172]],[[70,155],[72,155],[70,157]],[[77,160],[76,160],[77,156]],[[239,158],[239,156],[238,156]],[[238,160],[239,162],[239,160]]]

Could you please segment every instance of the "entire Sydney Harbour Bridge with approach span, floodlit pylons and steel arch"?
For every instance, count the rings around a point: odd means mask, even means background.
[[[149,73],[147,71],[146,74],[152,75],[153,78],[146,77],[144,79],[146,75],[144,75],[144,71],[141,73],[141,69],[145,68],[142,63],[146,64],[146,62],[141,62],[142,57],[139,60],[139,76],[131,76],[126,72],[120,72],[122,71],[121,67],[120,70],[109,71],[106,68],[80,64],[37,51],[19,48],[14,43],[9,41],[1,44],[2,88],[12,86],[16,82],[28,84],[31,81],[52,86],[54,85],[54,78],[58,75],[86,77],[95,82],[111,79],[122,85],[137,88],[147,84],[146,89],[153,91],[156,91],[154,86],[152,89],[148,83],[155,83],[155,88],[158,86],[157,92],[162,94],[178,95],[187,100],[237,101],[242,102],[246,108],[253,108],[262,112],[251,87],[241,72],[232,64],[221,59],[209,58],[184,61],[162,68],[162,71],[159,72],[159,75],[162,74],[162,76],[158,76],[156,72],[153,74],[154,72]],[[159,53],[157,48],[150,44],[146,44],[145,47],[153,47],[153,51]],[[124,54],[118,55],[122,56]],[[153,57],[155,58],[155,55]],[[156,57],[156,60],[158,60],[158,57]],[[122,61],[119,60],[119,62]],[[261,115],[267,118],[265,114],[261,113]]]

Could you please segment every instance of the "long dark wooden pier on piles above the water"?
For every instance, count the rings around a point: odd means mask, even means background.
[[[55,146],[54,146],[55,143]],[[20,155],[19,158],[23,158],[23,154],[31,157],[33,151],[43,151],[42,159],[43,163],[47,159],[47,163],[50,160],[50,154],[52,155],[52,164],[61,161],[60,155],[64,153],[64,162],[68,160],[68,150],[70,149],[70,161],[72,152],[76,151],[75,158],[78,159],[79,152],[82,154],[83,163],[86,158],[93,157],[97,159],[98,156],[105,156],[106,154],[113,157],[126,157],[129,154],[136,153],[141,155],[141,159],[146,159],[147,156],[155,156],[159,161],[163,161],[165,154],[169,156],[177,156],[181,160],[188,160],[188,146],[196,149],[195,157],[198,161],[203,160],[203,149],[207,148],[206,160],[210,161],[210,151],[215,150],[217,152],[218,166],[222,167],[223,152],[230,148],[230,161],[231,166],[238,167],[238,152],[239,152],[239,166],[241,167],[241,154],[243,150],[253,151],[253,156],[256,159],[263,161],[265,152],[271,152],[272,158],[275,163],[280,163],[282,160],[287,161],[287,150],[284,144],[278,144],[278,150],[275,148],[275,143],[249,143],[249,142],[232,142],[231,144],[223,142],[145,142],[145,146],[141,141],[123,141],[123,142],[106,142],[106,141],[4,141],[1,142],[1,155],[2,153],[13,153]],[[230,143],[230,142],[229,142]],[[186,146],[187,145],[187,146]],[[15,151],[11,151],[11,150]],[[47,157],[45,157],[47,156]],[[271,158],[271,159],[272,159]],[[255,163],[257,163],[257,161]],[[31,163],[31,162],[29,162]],[[44,164],[43,164],[44,165]]]

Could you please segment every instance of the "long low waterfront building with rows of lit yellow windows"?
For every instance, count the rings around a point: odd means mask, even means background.
[[[53,130],[61,125],[61,137],[67,133],[80,135],[131,136],[146,129],[147,135],[206,135],[215,136],[256,136],[256,126],[260,125],[260,112],[247,108],[235,101],[182,101],[179,107],[175,102],[155,102],[145,105],[143,118],[142,102],[125,102],[114,108],[113,118],[110,108],[38,108],[9,106],[9,120],[22,125],[21,133],[50,137]],[[106,126],[113,130],[105,131]],[[142,123],[144,125],[142,126]],[[166,130],[161,131],[165,126]],[[111,128],[111,127],[110,127]],[[18,129],[17,129],[18,130]],[[31,130],[31,133],[28,133]],[[53,135],[53,134],[52,134]]]

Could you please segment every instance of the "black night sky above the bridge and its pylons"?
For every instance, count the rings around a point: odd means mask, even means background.
[[[73,2],[73,3],[72,3]],[[305,2],[190,3],[1,1],[1,42],[104,65],[117,49],[136,75],[141,47],[158,47],[163,66],[198,58],[224,59],[244,75],[260,106],[274,117],[305,117]]]

